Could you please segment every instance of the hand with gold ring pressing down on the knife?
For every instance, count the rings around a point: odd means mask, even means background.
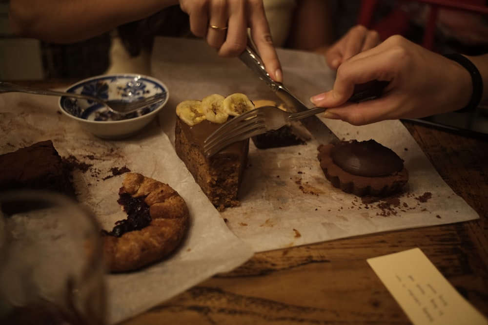
[[[205,38],[222,57],[237,57],[247,45],[247,29],[275,81],[283,81],[281,64],[273,46],[263,0],[180,0],[190,16],[191,32]]]

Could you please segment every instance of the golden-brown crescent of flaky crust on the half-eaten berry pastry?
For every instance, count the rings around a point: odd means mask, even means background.
[[[144,198],[151,222],[120,237],[102,237],[103,254],[111,272],[131,271],[157,262],[175,250],[189,227],[189,211],[183,198],[168,184],[139,173],[127,173],[119,194]]]

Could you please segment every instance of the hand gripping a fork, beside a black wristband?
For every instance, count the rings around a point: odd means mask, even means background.
[[[360,103],[347,101],[354,85],[371,80],[389,81],[382,96]],[[310,100],[328,107],[326,118],[364,125],[451,112],[465,107],[471,93],[471,77],[460,64],[392,36],[346,60],[337,70],[334,88]]]

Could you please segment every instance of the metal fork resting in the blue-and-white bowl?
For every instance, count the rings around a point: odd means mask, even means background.
[[[26,93],[26,94],[34,94],[34,95],[47,95],[47,96],[65,96],[68,98],[87,99],[97,103],[101,103],[105,105],[109,111],[120,115],[129,114],[138,111],[144,107],[159,103],[160,101],[166,99],[167,96],[166,92],[162,92],[154,96],[143,98],[140,100],[123,102],[121,100],[103,100],[101,98],[84,95],[84,94],[66,93],[66,92],[59,92],[55,90],[24,87],[10,82],[0,81],[0,94],[9,93],[9,92],[18,92],[18,93]]]

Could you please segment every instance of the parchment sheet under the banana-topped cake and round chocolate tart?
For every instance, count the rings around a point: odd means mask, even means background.
[[[331,89],[334,75],[324,57],[291,50],[278,54],[285,86],[305,104],[310,104],[310,96]],[[279,101],[239,59],[220,58],[200,40],[158,38],[152,67],[172,92],[168,109],[161,115],[172,143],[175,115],[171,108],[182,100],[241,92],[251,100]],[[405,192],[389,202],[392,204],[365,204],[325,179],[317,159],[317,142],[258,150],[251,141],[241,206],[223,211],[222,216],[255,251],[479,217],[447,186],[400,121],[362,127],[333,120],[325,123],[340,138],[372,138],[395,151],[405,160],[410,175]]]

